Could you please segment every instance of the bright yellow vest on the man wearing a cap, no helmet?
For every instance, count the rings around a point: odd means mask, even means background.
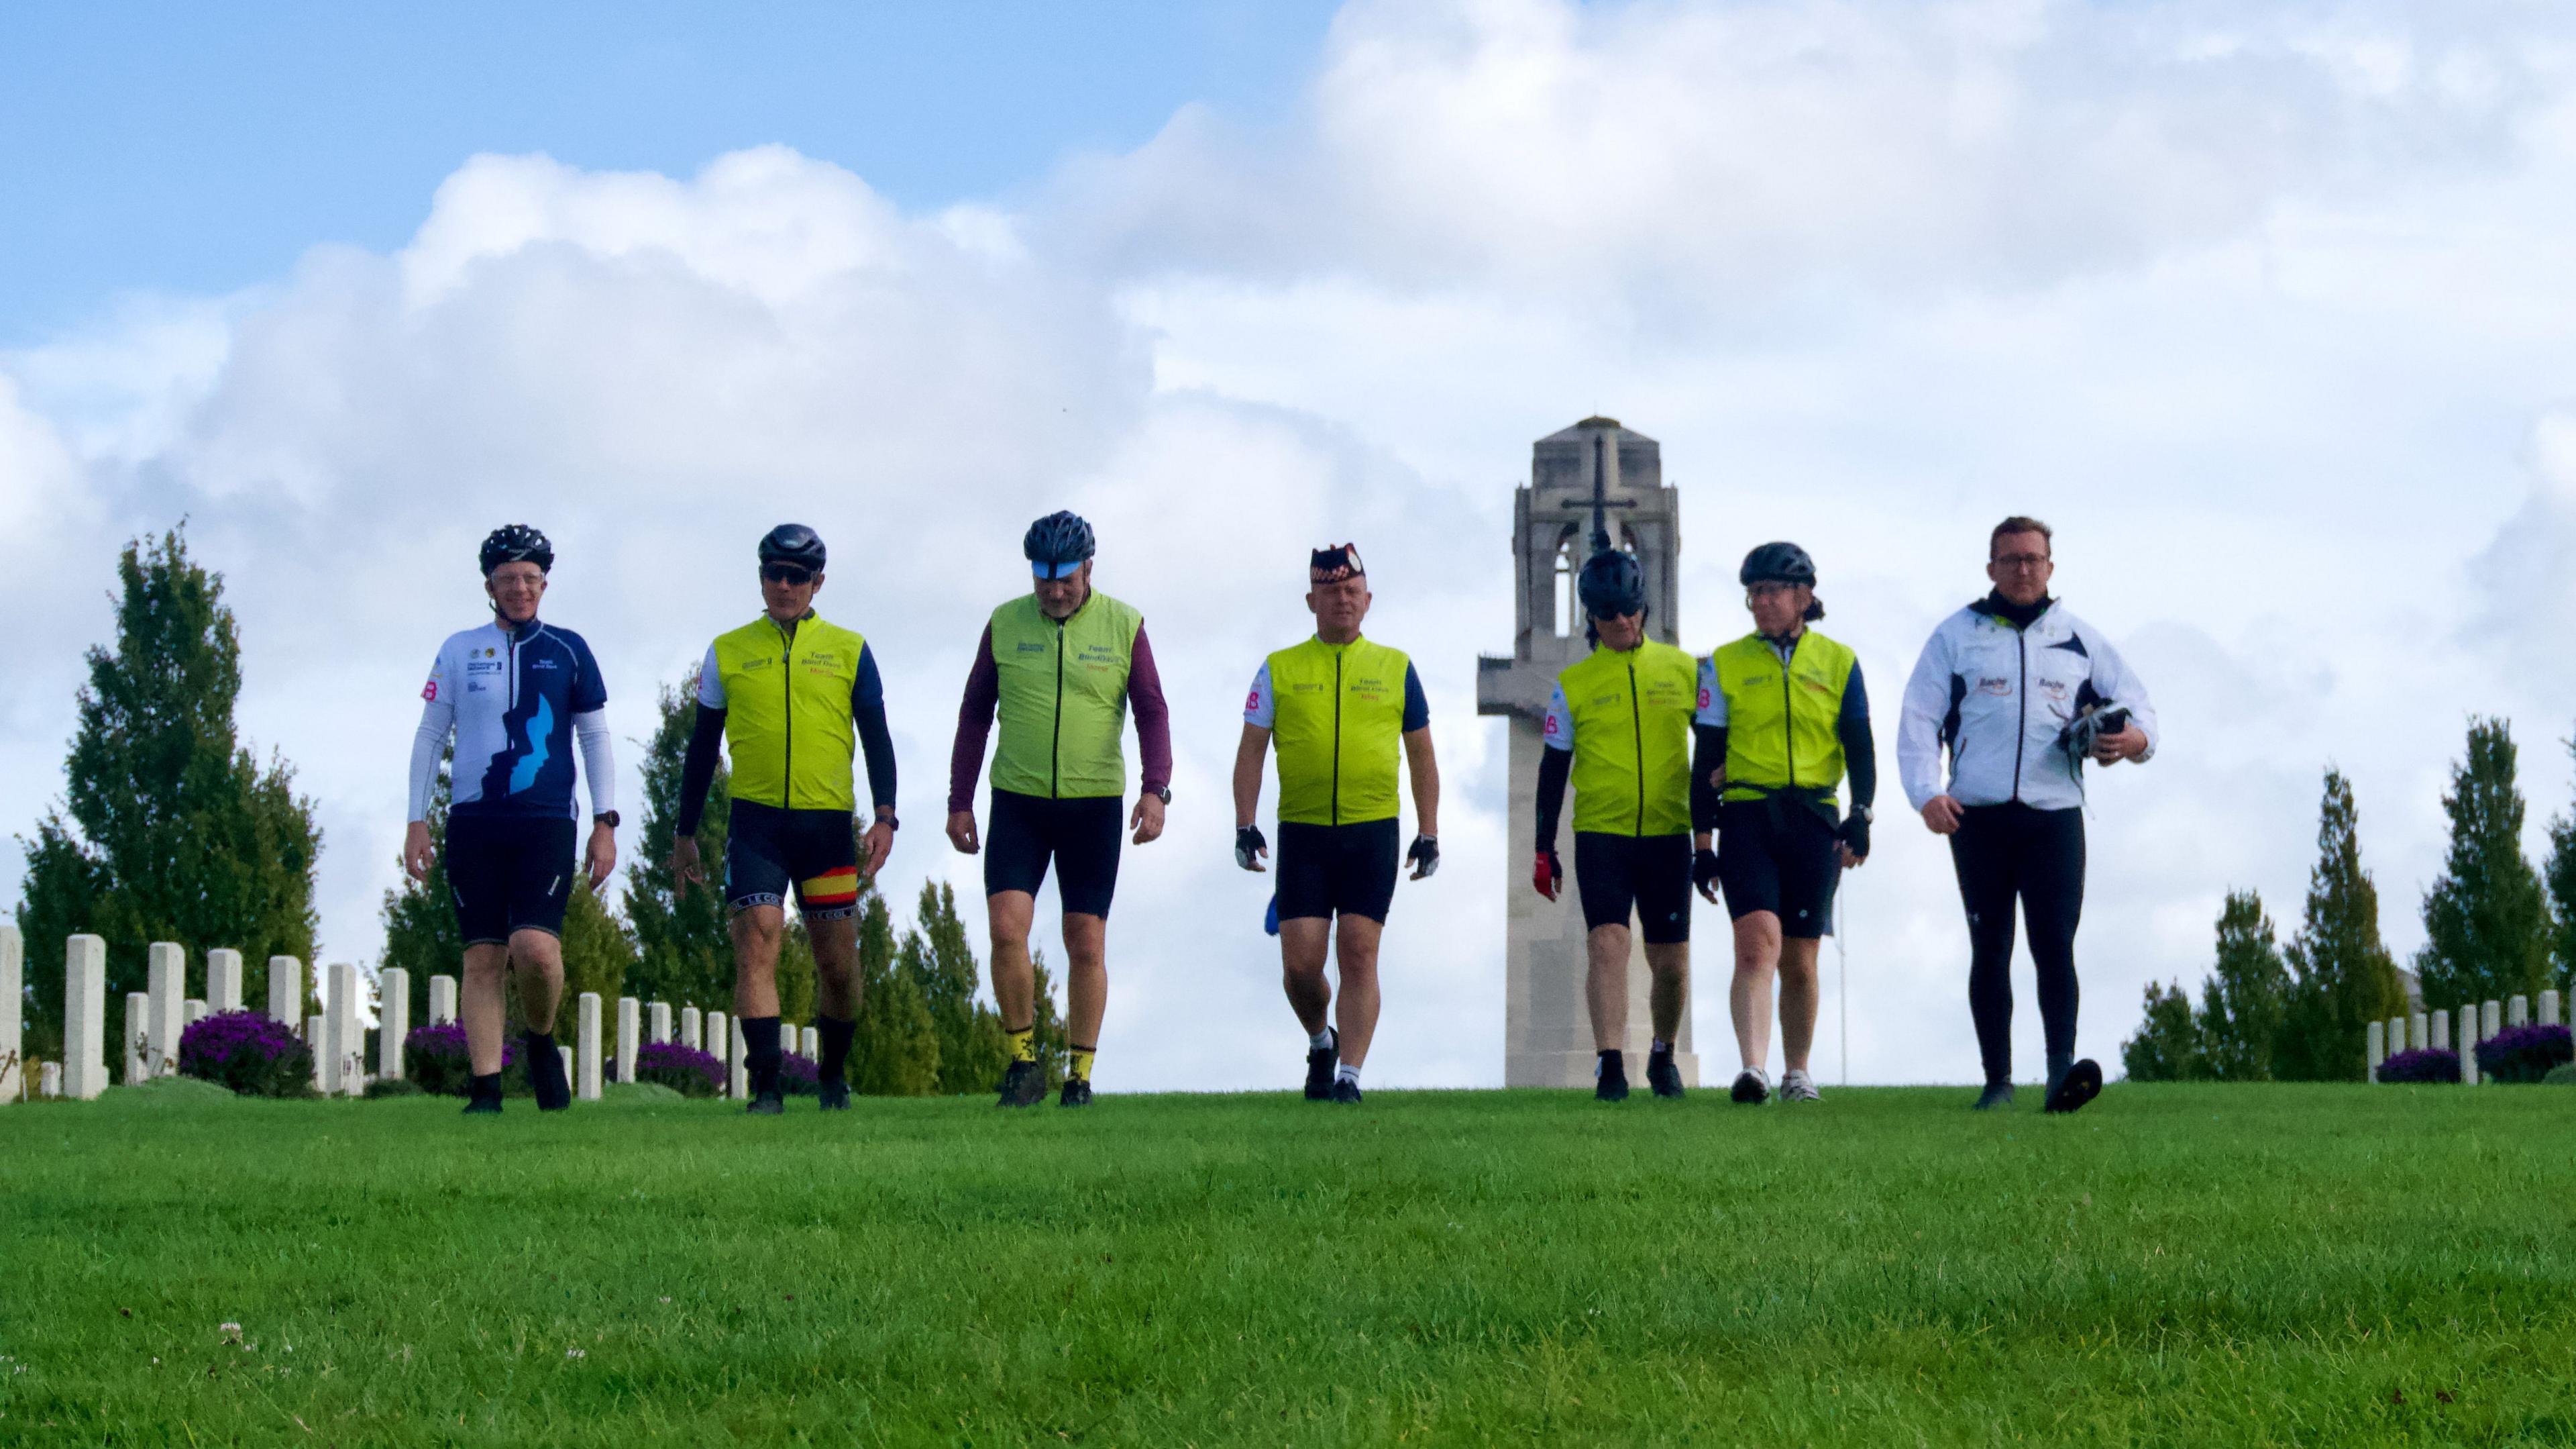
[[[1404,650],[1306,639],[1270,655],[1280,820],[1360,825],[1396,817]]]

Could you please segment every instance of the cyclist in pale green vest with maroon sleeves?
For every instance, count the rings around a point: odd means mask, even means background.
[[[1092,526],[1074,513],[1048,513],[1028,526],[1020,552],[1036,583],[992,611],[966,673],[958,737],[948,750],[948,843],[966,856],[984,851],[992,998],[1010,1036],[1002,1106],[1036,1106],[1046,1096],[1028,928],[1046,866],[1056,866],[1072,1057],[1056,1106],[1090,1106],[1092,1055],[1110,995],[1118,807],[1126,804],[1118,732],[1133,706],[1144,781],[1126,828],[1144,846],[1162,835],[1162,807],[1172,802],[1172,730],[1144,616],[1092,588]],[[992,838],[979,841],[974,776],[984,768],[994,714],[1002,717],[1002,748],[992,758]]]

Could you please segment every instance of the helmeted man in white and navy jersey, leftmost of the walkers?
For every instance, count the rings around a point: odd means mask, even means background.
[[[412,737],[412,820],[402,866],[430,874],[430,797],[438,755],[456,737],[448,804],[448,890],[464,928],[464,1024],[474,1080],[466,1111],[500,1111],[502,967],[518,967],[518,1006],[528,1018],[528,1085],[541,1111],[572,1106],[554,1008],[564,995],[564,902],[572,895],[572,743],[590,779],[590,843],[582,871],[598,890],[618,866],[616,758],[608,745],[608,688],[590,645],[541,624],[554,547],[526,523],[482,544],[492,621],[451,634],[422,686]]]

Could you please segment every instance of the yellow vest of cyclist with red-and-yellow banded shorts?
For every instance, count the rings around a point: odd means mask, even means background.
[[[814,614],[796,621],[793,637],[768,616],[716,637],[734,799],[781,810],[858,810],[850,789],[850,758],[858,753],[850,691],[863,647],[855,632]]]

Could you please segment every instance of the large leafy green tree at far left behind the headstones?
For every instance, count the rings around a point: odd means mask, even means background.
[[[144,990],[152,941],[191,962],[232,946],[309,967],[322,830],[294,768],[263,766],[234,732],[242,639],[224,578],[188,557],[183,529],[129,541],[116,572],[116,647],[88,655],[64,804],[18,838],[18,931],[39,962],[75,931],[106,936],[108,1000]],[[62,972],[28,975],[31,1034],[59,1042]]]

